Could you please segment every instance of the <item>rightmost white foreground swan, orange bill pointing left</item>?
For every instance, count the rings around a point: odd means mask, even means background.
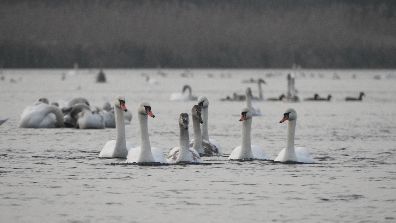
[[[279,152],[274,161],[296,161],[300,163],[314,163],[314,158],[304,147],[294,147],[294,135],[297,122],[297,112],[293,108],[289,108],[283,114],[282,120],[287,122],[286,148]]]

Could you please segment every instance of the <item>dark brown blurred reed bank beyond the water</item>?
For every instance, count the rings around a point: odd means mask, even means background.
[[[395,68],[394,0],[0,0],[0,67]]]

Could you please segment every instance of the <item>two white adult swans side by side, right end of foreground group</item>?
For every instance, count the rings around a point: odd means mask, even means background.
[[[252,120],[251,110],[247,107],[241,110],[242,123],[242,145],[236,147],[228,160],[236,159],[258,159],[258,160],[268,160],[264,150],[259,146],[251,145],[250,141],[250,131],[251,131],[251,120]],[[297,112],[289,108],[285,111],[284,117],[280,123],[284,121],[287,123],[287,136],[286,136],[286,148],[281,150],[274,161],[295,161],[300,163],[314,163],[314,159],[307,149],[303,147],[294,146],[294,136],[295,136],[295,126],[297,122]]]

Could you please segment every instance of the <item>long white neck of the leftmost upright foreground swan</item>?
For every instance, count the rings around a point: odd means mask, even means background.
[[[128,150],[126,148],[125,139],[125,123],[124,123],[124,111],[121,108],[114,107],[116,115],[116,146],[113,151],[114,157],[126,157]]]

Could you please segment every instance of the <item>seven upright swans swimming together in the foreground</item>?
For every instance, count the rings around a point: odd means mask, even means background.
[[[155,117],[148,102],[141,102],[137,109],[139,119],[141,145],[134,147],[131,142],[126,142],[124,112],[127,112],[124,96],[114,99],[114,110],[116,115],[116,140],[110,140],[101,150],[99,157],[103,158],[126,158],[126,163],[175,163],[194,162],[202,163],[201,156],[223,155],[217,141],[208,136],[208,106],[209,101],[205,96],[198,98],[198,104],[191,109],[192,127],[194,139],[190,141],[188,128],[190,117],[187,113],[179,115],[179,146],[173,148],[165,156],[159,148],[151,147],[148,133],[148,116]],[[237,146],[228,156],[228,160],[268,160],[265,151],[259,146],[251,144],[250,132],[253,113],[251,109],[244,106],[241,109],[242,121],[242,145]],[[314,163],[314,159],[307,149],[294,147],[295,126],[297,112],[289,108],[283,114],[280,123],[288,121],[286,148],[276,157],[275,161],[295,161],[301,163]],[[166,157],[166,158],[165,158]]]

